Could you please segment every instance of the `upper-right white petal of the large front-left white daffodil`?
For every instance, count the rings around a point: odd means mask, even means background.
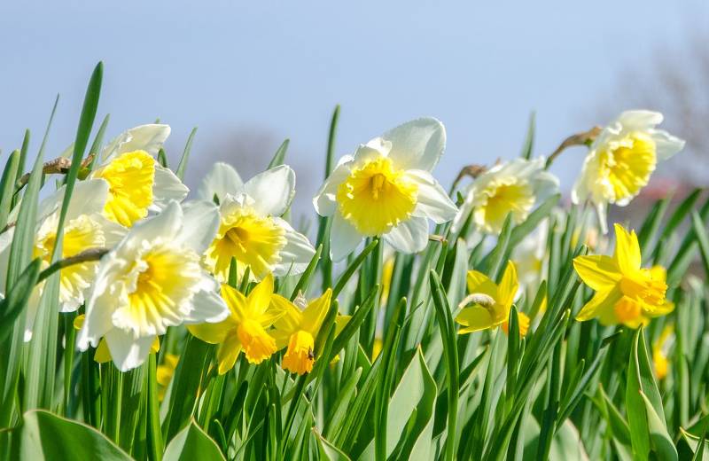
[[[191,200],[182,204],[183,227],[176,240],[203,254],[219,229],[219,209],[212,201]]]

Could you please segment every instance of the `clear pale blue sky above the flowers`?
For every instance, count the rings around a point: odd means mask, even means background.
[[[705,3],[6,0],[0,148],[5,156],[29,128],[35,152],[60,93],[47,156],[58,154],[73,140],[90,72],[103,60],[99,116],[111,113],[109,137],[160,117],[173,128],[176,157],[199,126],[192,161],[201,165],[229,158],[209,152],[213,138],[264,130],[291,138],[305,176],[322,168],[335,104],[339,154],[432,115],[448,129],[437,170],[448,186],[465,164],[517,155],[532,110],[538,154],[604,122],[595,120],[598,101],[619,71],[643,66],[684,27],[706,26]],[[571,152],[558,162],[565,189],[578,168]],[[317,185],[301,183],[300,193]]]

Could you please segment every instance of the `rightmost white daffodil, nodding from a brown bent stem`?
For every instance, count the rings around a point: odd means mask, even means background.
[[[573,185],[573,203],[589,199],[607,232],[608,204],[625,207],[650,181],[659,160],[667,160],[684,141],[655,127],[662,113],[627,111],[605,127],[591,145],[580,177]]]

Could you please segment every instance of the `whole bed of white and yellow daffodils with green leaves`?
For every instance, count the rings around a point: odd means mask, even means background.
[[[682,155],[660,113],[440,184],[440,121],[336,146],[337,108],[303,224],[287,141],[190,190],[194,133],[105,138],[102,79],[3,160],[3,459],[709,459],[709,199],[609,218]]]

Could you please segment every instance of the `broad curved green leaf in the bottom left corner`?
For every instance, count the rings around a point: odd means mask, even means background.
[[[58,417],[45,410],[27,411],[12,431],[12,458],[21,461],[131,457],[95,428]]]

